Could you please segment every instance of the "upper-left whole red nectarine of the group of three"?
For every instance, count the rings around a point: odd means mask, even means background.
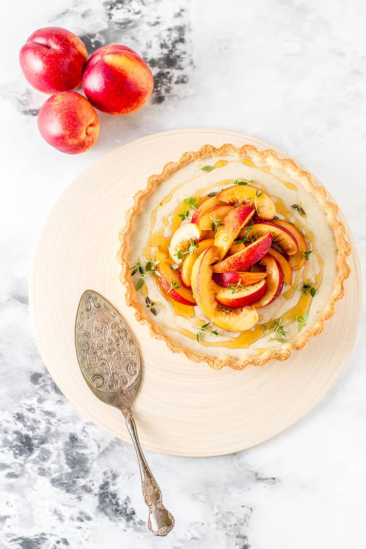
[[[44,27],[33,32],[19,53],[27,81],[44,93],[77,88],[87,58],[80,38],[61,27]]]

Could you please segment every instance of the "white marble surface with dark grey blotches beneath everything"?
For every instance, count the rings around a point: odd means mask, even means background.
[[[165,539],[145,528],[136,459],[85,421],[55,388],[29,324],[36,235],[72,178],[147,133],[211,126],[272,142],[323,181],[366,259],[362,0],[18,0],[0,7],[0,497],[6,549],[353,549],[366,512],[365,316],[344,373],[288,432],[235,455],[148,453],[176,517]],[[149,105],[101,115],[97,145],[67,156],[44,143],[45,99],[18,51],[38,27],[86,37],[89,51],[126,43],[153,68]]]

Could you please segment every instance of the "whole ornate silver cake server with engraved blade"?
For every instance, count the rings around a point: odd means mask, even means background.
[[[125,416],[138,457],[144,500],[149,507],[148,528],[155,536],[165,536],[174,526],[174,517],[162,504],[161,491],[145,460],[131,411],[142,376],[136,340],[120,313],[92,290],[84,292],[80,299],[75,345],[89,388],[99,400],[120,408]]]

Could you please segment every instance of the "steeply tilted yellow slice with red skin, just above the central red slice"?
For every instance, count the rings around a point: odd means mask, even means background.
[[[237,238],[240,229],[254,216],[255,209],[250,206],[238,206],[224,217],[222,225],[215,235],[215,246],[218,248],[218,257],[222,259],[230,246]]]

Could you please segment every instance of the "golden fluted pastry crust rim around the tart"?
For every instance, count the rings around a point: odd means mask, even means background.
[[[305,183],[305,187],[307,187],[309,192],[317,198],[327,214],[328,223],[333,229],[337,249],[338,275],[334,283],[333,294],[330,296],[324,311],[319,315],[314,326],[303,333],[297,341],[283,345],[280,350],[269,349],[261,356],[246,356],[240,360],[224,355],[215,358],[206,355],[204,352],[193,351],[192,349],[189,349],[189,347],[178,345],[169,335],[163,333],[156,322],[148,317],[145,307],[136,299],[136,289],[134,288],[132,277],[129,275],[128,266],[129,243],[131,242],[131,235],[134,231],[135,222],[140,212],[142,212],[144,201],[154,192],[156,186],[162,181],[165,181],[173,172],[180,170],[182,167],[195,160],[226,155],[237,155],[239,158],[249,158],[254,163],[264,162],[267,165],[289,173],[289,175],[300,184],[303,185]],[[243,147],[237,148],[234,147],[234,145],[227,143],[219,148],[212,147],[212,145],[203,145],[196,152],[184,153],[177,162],[169,162],[166,164],[159,175],[152,175],[148,178],[147,186],[134,195],[134,205],[126,212],[126,223],[119,233],[121,246],[119,253],[117,254],[117,259],[121,264],[120,281],[126,287],[126,303],[136,310],[135,317],[137,320],[140,323],[149,326],[150,334],[156,339],[165,341],[171,351],[182,352],[187,358],[194,362],[206,362],[213,369],[221,369],[224,366],[229,366],[232,369],[240,370],[250,364],[254,366],[264,366],[272,359],[278,361],[287,360],[292,351],[303,349],[310,338],[323,332],[325,320],[328,320],[328,318],[334,315],[336,301],[342,299],[345,294],[344,282],[351,272],[351,268],[347,263],[347,257],[351,254],[351,245],[346,240],[346,229],[344,224],[337,219],[338,212],[338,206],[334,202],[328,200],[324,187],[314,183],[311,173],[300,170],[295,161],[291,158],[280,158],[272,149],[260,151],[253,145],[243,145]]]

